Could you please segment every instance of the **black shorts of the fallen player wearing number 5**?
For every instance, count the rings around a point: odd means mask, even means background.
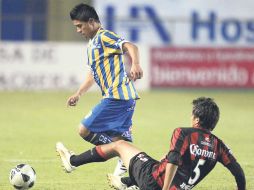
[[[141,190],[161,190],[152,176],[153,166],[157,163],[159,161],[154,160],[145,152],[138,153],[130,160],[130,178]]]

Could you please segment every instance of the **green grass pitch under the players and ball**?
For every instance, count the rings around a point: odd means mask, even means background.
[[[55,143],[62,141],[76,153],[93,146],[84,142],[77,126],[100,100],[99,93],[83,96],[77,107],[67,107],[70,92],[0,92],[0,189],[13,189],[9,171],[27,163],[37,172],[34,190],[109,190],[106,174],[116,159],[62,171]],[[172,131],[190,125],[191,101],[213,97],[221,110],[214,134],[224,140],[242,165],[247,189],[254,189],[254,91],[165,90],[140,93],[134,114],[134,144],[160,159],[167,153]],[[198,185],[197,190],[235,189],[235,181],[221,164]]]

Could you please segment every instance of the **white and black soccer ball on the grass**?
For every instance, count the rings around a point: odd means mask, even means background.
[[[28,164],[19,164],[11,170],[9,179],[15,189],[25,190],[33,187],[36,173]]]

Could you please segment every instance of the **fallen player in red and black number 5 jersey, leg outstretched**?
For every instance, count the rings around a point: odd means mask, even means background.
[[[58,151],[63,165],[77,167],[120,156],[129,168],[130,180],[112,180],[117,189],[128,189],[125,182],[141,190],[189,190],[216,165],[222,163],[235,177],[238,190],[245,190],[244,172],[230,149],[211,131],[219,120],[219,108],[211,98],[193,100],[192,127],[176,128],[165,158],[157,161],[126,141],[96,146],[80,155],[71,154],[62,144]],[[129,185],[130,185],[129,184]]]

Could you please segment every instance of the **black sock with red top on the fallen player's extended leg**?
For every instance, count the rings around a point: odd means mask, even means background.
[[[80,166],[83,164],[91,163],[91,162],[104,162],[107,159],[102,157],[94,147],[91,150],[88,150],[80,155],[73,155],[70,158],[70,163],[73,166]]]

